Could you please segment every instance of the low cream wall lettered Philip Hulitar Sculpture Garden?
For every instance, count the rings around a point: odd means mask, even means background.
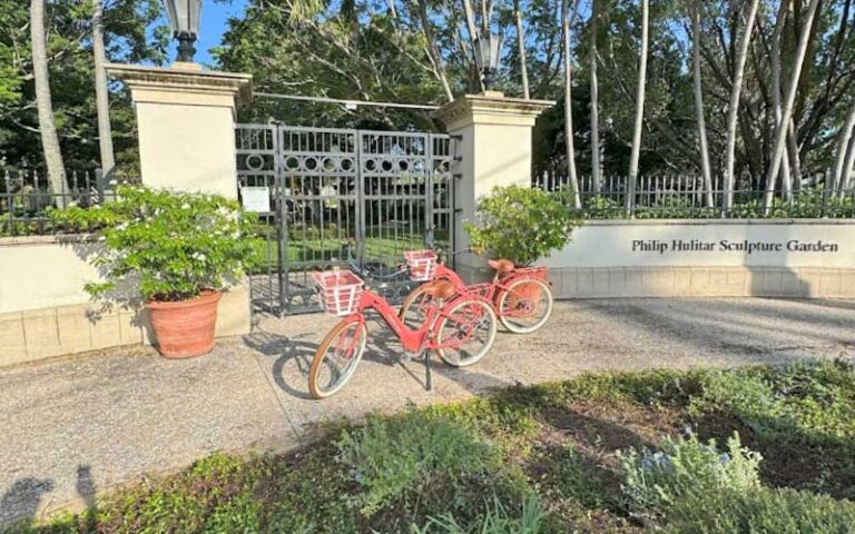
[[[464,279],[491,276],[474,265]],[[541,265],[559,298],[855,298],[855,221],[587,221]]]

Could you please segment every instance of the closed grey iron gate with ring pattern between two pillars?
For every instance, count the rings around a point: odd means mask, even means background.
[[[450,250],[453,236],[446,135],[237,125],[237,179],[259,211],[265,264],[252,277],[256,309],[320,309],[311,273],[348,260],[393,273],[403,251]],[[253,197],[253,201],[249,197]],[[401,300],[413,283],[375,283]]]

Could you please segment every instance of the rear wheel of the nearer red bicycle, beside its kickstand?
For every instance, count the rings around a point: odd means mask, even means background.
[[[483,300],[461,298],[436,327],[436,355],[454,367],[472,365],[484,357],[495,340],[495,313]]]

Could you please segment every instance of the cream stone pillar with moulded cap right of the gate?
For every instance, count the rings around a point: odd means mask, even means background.
[[[454,245],[469,246],[465,221],[474,220],[478,199],[495,186],[531,186],[531,130],[534,120],[554,106],[549,100],[505,98],[498,91],[466,95],[436,112],[446,131],[458,136],[454,187],[459,209]],[[456,269],[468,281],[489,275],[475,255],[459,255]]]

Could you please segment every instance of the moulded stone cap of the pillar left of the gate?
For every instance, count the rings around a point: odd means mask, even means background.
[[[140,65],[107,63],[109,75],[134,89],[165,89],[176,92],[207,92],[230,95],[235,106],[253,100],[253,75],[202,70],[196,63],[180,63],[168,68]]]

